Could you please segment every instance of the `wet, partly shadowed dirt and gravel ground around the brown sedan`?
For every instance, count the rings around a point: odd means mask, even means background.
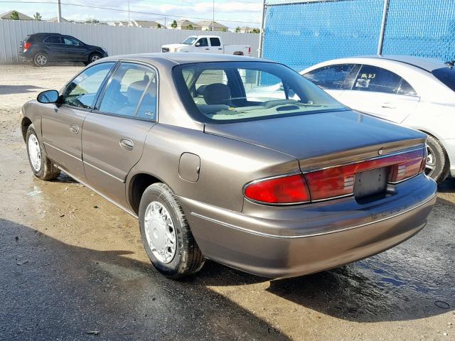
[[[0,340],[455,340],[455,179],[422,232],[370,259],[275,281],[209,261],[170,281],[134,218],[30,171],[20,107],[80,69],[0,65]]]

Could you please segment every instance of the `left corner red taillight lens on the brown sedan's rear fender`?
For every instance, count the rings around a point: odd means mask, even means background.
[[[245,187],[245,197],[266,204],[296,204],[310,201],[303,174],[257,180]]]

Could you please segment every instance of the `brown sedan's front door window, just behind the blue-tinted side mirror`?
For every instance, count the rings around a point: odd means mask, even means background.
[[[97,92],[114,64],[98,64],[77,75],[63,90],[63,104],[93,109]]]

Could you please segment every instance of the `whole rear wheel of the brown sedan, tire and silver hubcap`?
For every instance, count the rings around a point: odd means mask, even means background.
[[[176,195],[164,183],[144,191],[139,227],[151,264],[168,278],[196,274],[205,261]]]

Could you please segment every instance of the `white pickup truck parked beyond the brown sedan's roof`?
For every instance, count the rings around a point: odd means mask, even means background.
[[[189,36],[181,44],[161,46],[161,52],[224,53],[250,55],[250,45],[224,45],[218,36]]]

